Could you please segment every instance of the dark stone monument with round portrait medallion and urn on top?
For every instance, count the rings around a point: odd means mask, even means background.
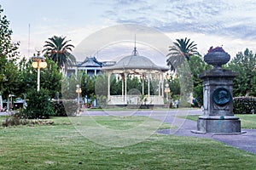
[[[211,71],[202,73],[204,113],[198,117],[196,133],[241,133],[241,122],[233,114],[235,72],[222,68],[230,60],[223,48],[210,48],[204,56]]]

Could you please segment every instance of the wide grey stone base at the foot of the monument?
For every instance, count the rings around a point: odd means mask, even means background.
[[[198,133],[241,133],[241,121],[236,116],[199,116]]]

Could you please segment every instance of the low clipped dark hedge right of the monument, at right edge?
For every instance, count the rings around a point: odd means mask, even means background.
[[[256,109],[256,97],[234,98],[234,114],[254,114]]]

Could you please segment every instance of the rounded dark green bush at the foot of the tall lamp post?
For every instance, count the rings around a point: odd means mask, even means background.
[[[54,115],[48,90],[41,88],[38,92],[36,89],[32,89],[26,99],[27,107],[24,114],[27,118],[49,118]]]

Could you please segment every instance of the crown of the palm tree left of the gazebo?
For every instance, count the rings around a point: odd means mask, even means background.
[[[50,37],[49,41],[45,41],[44,50],[52,59],[57,63],[60,69],[67,68],[67,65],[73,65],[76,61],[73,54],[70,54],[74,48],[72,44],[69,44],[71,40],[65,40],[66,37]]]

